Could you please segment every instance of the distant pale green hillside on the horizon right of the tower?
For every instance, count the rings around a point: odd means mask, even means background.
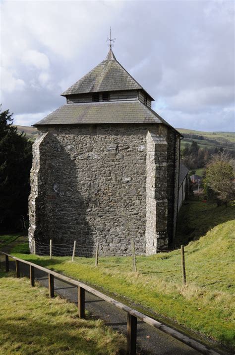
[[[200,148],[214,149],[215,147],[222,147],[235,156],[235,132],[203,132],[185,128],[177,128],[177,130],[184,137],[181,141],[181,149],[186,144],[196,141]]]

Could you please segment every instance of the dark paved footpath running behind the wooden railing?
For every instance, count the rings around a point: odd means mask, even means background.
[[[21,237],[20,237],[21,238]],[[22,239],[6,246],[5,253],[17,242],[22,243]],[[9,263],[10,268],[14,269],[14,262]],[[20,263],[21,275],[29,276],[29,266]],[[48,276],[45,272],[35,269],[35,278],[41,285],[48,287]],[[55,293],[60,297],[67,298],[70,302],[77,303],[77,287],[65,283],[55,278]],[[101,318],[107,326],[111,326],[126,335],[127,314],[126,312],[114,307],[112,304],[103,301],[85,292],[85,308],[89,311],[89,317]],[[199,352],[189,348],[178,340],[170,337],[158,329],[155,329],[143,321],[137,323],[137,354],[146,355],[196,355]]]

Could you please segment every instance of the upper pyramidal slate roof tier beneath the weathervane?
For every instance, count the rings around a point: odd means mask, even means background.
[[[143,89],[117,62],[112,50],[106,59],[61,93],[62,96],[101,91]],[[144,89],[143,89],[144,90]],[[151,96],[150,96],[151,97]],[[151,97],[152,98],[152,97]],[[153,99],[153,98],[152,98]]]

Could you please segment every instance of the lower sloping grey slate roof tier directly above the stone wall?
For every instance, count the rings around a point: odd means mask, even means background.
[[[34,126],[96,123],[164,123],[170,126],[155,111],[137,100],[66,103]]]

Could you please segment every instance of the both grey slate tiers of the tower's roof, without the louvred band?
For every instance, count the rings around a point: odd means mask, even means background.
[[[61,95],[131,89],[143,88],[117,62],[110,50],[103,62]],[[33,126],[102,123],[163,123],[176,131],[159,114],[138,99],[65,103]],[[179,132],[177,134],[181,136]]]

